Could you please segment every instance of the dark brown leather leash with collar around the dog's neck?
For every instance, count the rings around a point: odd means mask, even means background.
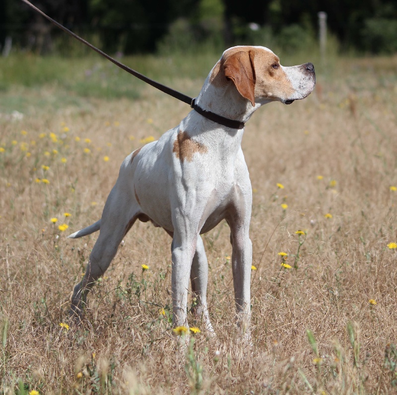
[[[73,33],[71,30],[67,29],[65,26],[61,25],[61,23],[57,22],[53,18],[49,17],[47,14],[45,14],[42,10],[34,6],[30,1],[28,0],[22,0],[24,3],[32,7],[34,10],[39,12],[41,15],[43,15],[45,18],[47,18],[49,21],[57,25],[59,28],[62,30],[66,31],[66,33],[70,34],[72,37],[74,37],[76,40],[81,41],[83,44],[85,44],[87,47],[93,49],[95,52],[98,54],[102,55],[104,58],[107,60],[110,60],[112,63],[114,63],[116,66],[120,67],[121,69],[125,70],[127,73],[132,74],[132,76],[141,79],[142,81],[148,83],[149,85],[161,90],[164,93],[167,93],[168,95],[175,97],[176,99],[183,101],[184,103],[189,104],[196,112],[198,112],[200,115],[203,117],[216,122],[220,125],[226,126],[228,128],[232,129],[243,129],[244,128],[244,122],[236,121],[234,119],[229,119],[222,117],[221,115],[215,114],[214,112],[204,110],[201,108],[198,104],[196,104],[196,98],[187,96],[184,93],[181,93],[175,89],[172,89],[166,85],[163,85],[160,82],[154,81],[153,79],[150,79],[143,74],[138,73],[137,71],[131,69],[130,67],[124,65],[123,63],[119,62],[118,60],[112,58],[108,54],[105,54],[105,52],[101,51],[97,47],[94,47],[92,44],[90,44],[88,41],[84,40],[83,38],[77,36],[77,34]]]

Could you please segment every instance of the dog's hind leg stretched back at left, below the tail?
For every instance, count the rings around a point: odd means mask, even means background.
[[[135,199],[129,193],[118,190],[116,184],[103,209],[101,230],[90,254],[84,277],[81,283],[74,287],[70,316],[74,318],[82,316],[88,291],[109,267],[119,244],[139,214],[139,206]]]

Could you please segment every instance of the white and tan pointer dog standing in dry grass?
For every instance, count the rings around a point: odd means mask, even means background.
[[[283,67],[265,47],[237,46],[223,53],[195,100],[203,110],[245,123],[266,103],[290,104],[307,97],[315,83],[312,63]],[[252,187],[240,146],[243,133],[243,127],[222,126],[193,109],[179,126],[124,160],[101,219],[69,236],[100,230],[85,275],[73,291],[72,316],[82,316],[87,292],[105,273],[134,222],[151,221],[172,237],[173,326],[188,326],[190,279],[197,299],[194,316],[214,335],[206,301],[208,262],[200,235],[226,220],[236,323],[250,338]]]

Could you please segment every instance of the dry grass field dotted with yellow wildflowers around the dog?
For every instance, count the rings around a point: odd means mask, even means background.
[[[217,58],[126,62],[193,96]],[[169,236],[137,223],[69,328],[98,235],[66,236],[100,218],[122,160],[189,107],[97,57],[0,59],[0,393],[396,394],[397,57],[281,56],[308,61],[315,91],[260,109],[243,139],[253,347],[237,341],[221,223],[203,237],[217,337],[196,334],[184,356]]]

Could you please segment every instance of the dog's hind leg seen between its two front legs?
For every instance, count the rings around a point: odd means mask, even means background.
[[[208,261],[205,255],[204,244],[199,236],[197,238],[197,246],[195,256],[193,257],[192,269],[190,272],[190,280],[192,282],[193,297],[196,298],[196,306],[193,308],[193,316],[195,319],[202,319],[205,329],[211,335],[215,335],[211,321],[209,319],[207,307],[207,283],[208,283]]]

